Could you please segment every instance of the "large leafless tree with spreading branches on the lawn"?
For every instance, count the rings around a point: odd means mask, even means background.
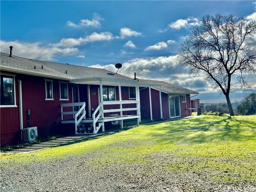
[[[193,74],[203,74],[219,87],[234,115],[229,94],[248,86],[256,72],[256,22],[234,15],[206,15],[181,44],[179,59]],[[200,73],[203,72],[203,73]]]

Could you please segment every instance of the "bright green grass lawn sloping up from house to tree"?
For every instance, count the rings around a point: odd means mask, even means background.
[[[219,181],[252,182],[256,180],[256,116],[203,116],[141,125],[31,154],[2,154],[0,163],[52,161],[82,154],[93,154],[91,166],[150,163],[150,155],[162,154],[176,160],[161,169],[207,171]]]

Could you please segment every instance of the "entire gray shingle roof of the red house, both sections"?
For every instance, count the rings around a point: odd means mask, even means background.
[[[6,53],[1,53],[0,60],[1,60],[0,62],[1,69],[9,68],[13,70],[23,71],[24,74],[34,73],[35,75],[52,76],[52,78],[66,79],[69,81],[72,81],[75,79],[94,79],[94,78],[100,78],[100,77],[108,77],[108,78],[114,78],[114,79],[116,78],[127,79],[127,80],[133,79],[120,74],[113,75],[114,73],[112,71],[109,71],[106,69],[70,65],[67,63],[64,64],[64,63],[51,62],[51,61],[27,59],[27,58],[18,57],[15,55],[13,55],[13,57],[9,57],[9,54],[6,54]],[[36,66],[36,69],[34,69],[35,66]],[[43,66],[43,69],[42,69],[42,66]],[[66,74],[66,70],[67,70],[67,74]],[[163,81],[139,79],[139,82],[161,84],[162,90],[168,93],[198,94],[198,92],[196,91],[192,91],[184,87],[173,85]]]

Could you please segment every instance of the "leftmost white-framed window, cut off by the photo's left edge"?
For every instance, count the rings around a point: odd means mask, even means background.
[[[1,106],[15,105],[14,77],[1,75],[0,89]]]

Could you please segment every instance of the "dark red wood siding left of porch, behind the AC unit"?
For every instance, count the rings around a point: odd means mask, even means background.
[[[18,79],[22,81],[23,127],[27,127],[27,110],[30,109],[30,126],[37,126],[38,137],[63,133],[64,131],[60,130],[60,104],[72,102],[71,84],[68,84],[69,100],[59,100],[59,81],[53,79],[54,100],[45,100],[45,78],[17,74],[15,77],[17,104],[19,103]],[[19,128],[19,108],[1,108],[1,143],[20,142]]]

